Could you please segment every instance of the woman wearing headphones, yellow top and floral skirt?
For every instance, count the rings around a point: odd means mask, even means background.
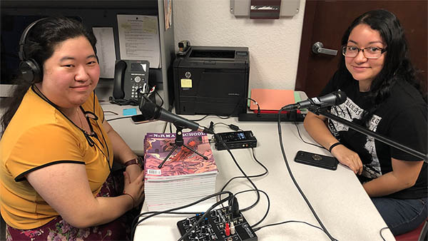
[[[130,237],[128,211],[144,199],[141,160],[103,116],[95,46],[91,31],[65,17],[36,21],[21,36],[22,80],[1,119],[7,240]],[[122,182],[112,178],[113,157],[126,166]]]

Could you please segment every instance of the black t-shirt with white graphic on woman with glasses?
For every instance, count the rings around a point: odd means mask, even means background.
[[[350,73],[337,71],[320,96],[333,91],[345,91],[347,100],[340,106],[332,106],[335,116],[363,125],[361,118],[370,107],[367,93],[360,92],[358,81]],[[421,153],[427,153],[427,103],[416,88],[405,81],[397,81],[391,88],[389,98],[382,103],[370,120],[369,129]],[[347,148],[354,150],[363,163],[360,180],[371,180],[392,171],[391,158],[417,161],[413,155],[358,133],[347,125],[328,120],[331,133]],[[397,193],[392,198],[415,199],[427,197],[427,163],[424,163],[416,184]]]

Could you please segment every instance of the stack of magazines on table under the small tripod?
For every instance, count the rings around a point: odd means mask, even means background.
[[[147,133],[144,139],[144,190],[149,211],[180,207],[215,193],[218,169],[207,134],[183,133],[183,141],[208,160],[182,145],[158,168],[175,147],[175,133]],[[206,202],[215,202],[215,198]]]

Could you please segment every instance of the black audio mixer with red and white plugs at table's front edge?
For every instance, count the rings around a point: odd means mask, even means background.
[[[202,214],[203,215],[203,214]],[[202,215],[177,222],[180,235],[190,230]],[[212,210],[183,240],[188,241],[257,241],[257,235],[241,212],[233,215],[228,207]]]

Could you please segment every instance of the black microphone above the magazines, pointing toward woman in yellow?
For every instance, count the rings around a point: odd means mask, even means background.
[[[192,120],[170,113],[149,100],[141,99],[139,108],[144,120],[163,120],[181,128],[189,128],[191,130],[202,131],[203,133],[215,134],[213,130],[200,126]]]

